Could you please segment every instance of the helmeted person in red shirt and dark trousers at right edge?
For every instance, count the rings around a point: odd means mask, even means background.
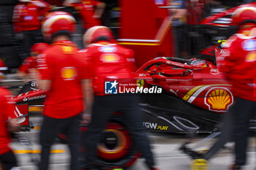
[[[238,170],[246,163],[249,119],[256,110],[256,8],[244,5],[233,12],[232,18],[239,29],[225,43],[227,53],[220,71],[233,85],[236,96],[236,103],[228,112],[233,117],[236,144],[235,163],[230,169]]]

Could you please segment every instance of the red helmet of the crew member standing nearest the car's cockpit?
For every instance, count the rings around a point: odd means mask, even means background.
[[[93,26],[83,35],[83,44],[85,46],[91,45],[91,43],[94,43],[101,36],[107,38],[109,42],[116,43],[116,39],[110,28],[105,26]]]

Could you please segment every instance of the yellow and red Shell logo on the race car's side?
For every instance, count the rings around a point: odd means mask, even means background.
[[[233,101],[233,95],[227,88],[211,88],[206,93],[205,104],[211,111],[226,112]]]

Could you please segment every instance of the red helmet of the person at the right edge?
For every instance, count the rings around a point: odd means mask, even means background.
[[[256,8],[249,5],[240,7],[233,12],[232,19],[237,25],[256,23]]]

